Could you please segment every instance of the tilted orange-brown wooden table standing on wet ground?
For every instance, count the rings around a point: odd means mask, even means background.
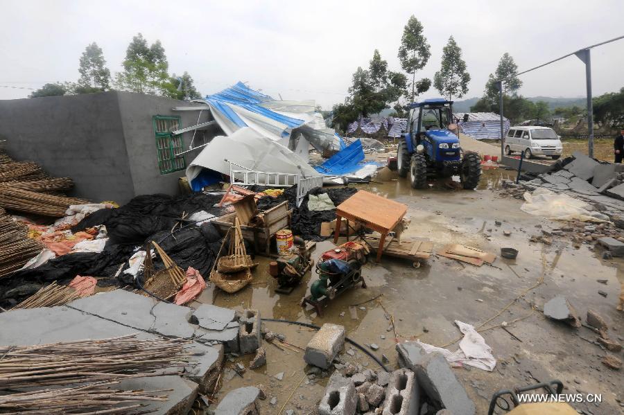
[[[385,237],[388,236],[388,232],[395,229],[406,213],[407,206],[405,204],[388,200],[367,191],[358,191],[336,207],[336,231],[333,233],[333,243],[338,242],[340,224],[343,218],[347,221],[359,222],[363,226],[381,233],[379,246],[382,249],[377,249],[377,262],[379,262],[381,261]],[[347,226],[348,239],[349,227]]]

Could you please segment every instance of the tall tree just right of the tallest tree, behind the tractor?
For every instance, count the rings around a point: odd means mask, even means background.
[[[457,45],[453,36],[449,43],[442,48],[442,68],[433,77],[433,86],[449,100],[456,96],[461,98],[468,92],[470,74],[466,71],[466,62],[462,60],[462,49]]]

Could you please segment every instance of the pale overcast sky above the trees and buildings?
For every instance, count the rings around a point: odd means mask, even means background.
[[[465,98],[481,96],[509,52],[519,69],[624,35],[624,1],[31,1],[0,0],[0,99],[26,98],[46,82],[76,81],[78,59],[97,42],[121,71],[133,35],[160,39],[170,72],[189,71],[202,94],[241,80],[284,99],[342,102],[352,73],[375,48],[399,70],[410,15],[424,25],[433,78],[453,35],[471,75]],[[624,87],[624,39],[593,49],[593,94]],[[575,57],[521,78],[524,96],[584,96]],[[437,96],[432,89],[425,96]]]

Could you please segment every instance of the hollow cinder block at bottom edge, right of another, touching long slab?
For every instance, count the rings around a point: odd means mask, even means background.
[[[385,391],[382,414],[418,415],[419,409],[420,396],[414,372],[409,369],[392,372]]]

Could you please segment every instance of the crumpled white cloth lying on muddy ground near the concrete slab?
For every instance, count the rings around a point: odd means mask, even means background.
[[[458,328],[464,337],[460,341],[460,348],[451,352],[446,348],[432,346],[417,340],[417,343],[424,348],[426,353],[437,351],[444,355],[444,358],[454,367],[462,367],[464,364],[483,369],[484,371],[493,371],[496,367],[496,358],[492,355],[492,348],[485,344],[485,340],[476,332],[474,326],[455,320]]]

